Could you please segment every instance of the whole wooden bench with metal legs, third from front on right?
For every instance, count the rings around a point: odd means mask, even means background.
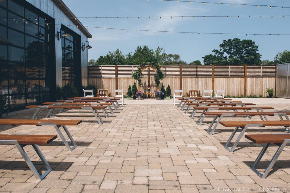
[[[231,117],[237,117],[237,116],[259,116],[261,120],[263,121],[263,118],[261,116],[279,116],[281,120],[284,120],[283,117],[285,117],[286,120],[289,120],[288,115],[290,115],[290,112],[203,112],[206,116],[214,116],[214,119],[212,120],[211,124],[208,127],[208,130],[206,131],[208,134],[212,134],[214,130],[217,128],[219,122],[221,119],[225,116],[231,116]],[[218,121],[214,122],[218,119]],[[214,125],[214,127],[212,127]],[[288,128],[286,128],[287,131]]]

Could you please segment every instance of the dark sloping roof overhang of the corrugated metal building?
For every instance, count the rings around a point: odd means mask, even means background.
[[[67,17],[71,17],[71,18],[76,18],[76,16],[72,13],[72,11],[69,10],[69,8],[66,6],[66,4],[64,4],[64,2],[62,0],[52,0],[57,7],[60,8],[61,11],[63,11],[64,14],[66,14]],[[82,33],[84,33],[87,38],[92,38],[92,34],[89,33],[89,31],[85,28],[85,26],[83,26],[83,24],[79,21],[78,18],[72,19],[71,20],[76,26],[79,26],[79,29],[82,31]]]

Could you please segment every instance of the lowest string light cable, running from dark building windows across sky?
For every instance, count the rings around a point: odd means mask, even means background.
[[[6,22],[8,22],[6,20]],[[39,22],[31,22],[31,21],[20,21],[20,22],[25,22],[25,24],[28,24],[28,23],[34,23],[34,24],[45,24],[45,25],[56,25],[58,26],[58,24],[51,24],[51,23],[39,23]],[[65,25],[67,27],[69,26],[72,26],[72,27],[80,27],[80,26],[76,26],[76,25]],[[112,27],[95,27],[95,26],[84,26],[86,27],[87,29],[89,28],[96,28],[96,29],[106,29],[106,30],[121,30],[121,31],[126,31],[126,32],[129,32],[129,31],[141,31],[141,32],[161,32],[161,33],[183,33],[183,34],[210,34],[210,35],[253,35],[253,36],[289,36],[290,34],[278,34],[278,33],[269,33],[269,34],[261,34],[261,33],[209,33],[209,32],[186,32],[186,31],[162,31],[162,30],[132,30],[132,29],[122,29],[122,28],[112,28]]]

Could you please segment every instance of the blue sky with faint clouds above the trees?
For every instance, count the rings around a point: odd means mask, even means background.
[[[157,0],[63,0],[76,17],[128,16],[193,16],[193,15],[290,15],[290,8],[244,7],[243,5],[192,5],[188,2],[161,2]],[[208,2],[247,3],[290,7],[289,0],[208,0]],[[233,17],[233,18],[141,18],[141,19],[80,19],[85,26],[139,30],[200,31],[209,33],[290,33],[290,17]],[[224,39],[251,39],[259,45],[261,59],[273,60],[279,51],[289,48],[290,36],[205,35],[183,33],[135,32],[89,28],[93,49],[89,59],[98,59],[109,51],[120,49],[124,54],[134,52],[137,46],[152,49],[163,47],[166,53],[179,54],[186,62],[200,60],[210,54]]]

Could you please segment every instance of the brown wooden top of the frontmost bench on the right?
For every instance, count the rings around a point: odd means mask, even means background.
[[[253,134],[246,135],[246,138],[255,144],[282,144],[285,139],[290,139],[290,134]]]

